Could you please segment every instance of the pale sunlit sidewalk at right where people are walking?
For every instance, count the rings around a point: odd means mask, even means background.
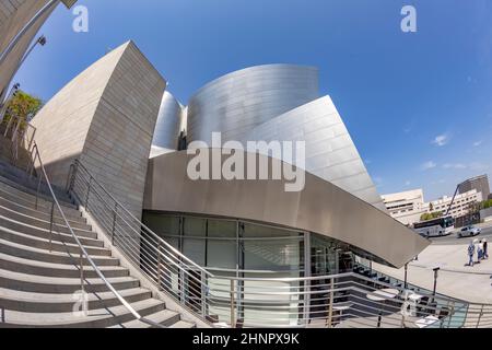
[[[492,259],[468,267],[468,242],[462,245],[429,246],[419,260],[408,268],[408,281],[412,284],[432,290],[435,267],[441,267],[437,279],[437,293],[461,299],[472,303],[492,304]],[[405,268],[394,269],[379,264],[375,270],[400,280],[405,279]]]

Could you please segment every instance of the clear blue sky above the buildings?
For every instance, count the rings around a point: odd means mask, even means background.
[[[138,3],[138,5],[136,5]],[[15,81],[49,100],[108,49],[133,39],[183,103],[204,83],[255,65],[320,70],[367,168],[386,194],[452,195],[492,175],[490,0],[79,0],[90,32],[59,7]],[[400,10],[418,11],[402,33]]]

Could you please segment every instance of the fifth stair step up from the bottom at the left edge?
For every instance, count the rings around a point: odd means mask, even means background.
[[[62,265],[72,265],[73,260],[79,260],[79,254],[67,254],[65,252],[51,252],[49,253],[43,248],[36,248],[14,242],[9,242],[0,238],[0,253],[16,256],[24,259],[34,261],[45,261]],[[118,266],[119,259],[112,256],[91,256],[94,262],[98,267],[103,266]],[[84,266],[89,266],[89,261],[84,258]]]

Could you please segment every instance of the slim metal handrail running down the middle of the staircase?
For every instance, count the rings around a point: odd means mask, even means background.
[[[84,292],[84,264],[83,264],[83,259],[85,258],[89,264],[92,266],[92,268],[94,269],[94,271],[96,272],[96,275],[101,278],[101,280],[104,282],[104,284],[106,284],[106,287],[108,288],[108,290],[116,296],[116,299],[118,299],[118,301],[133,315],[133,317],[137,320],[140,320],[142,323],[145,323],[150,326],[154,326],[154,327],[162,327],[164,328],[162,325],[154,323],[150,319],[147,319],[145,317],[142,317],[126,300],[125,298],[121,296],[121,294],[118,293],[118,291],[113,287],[113,284],[104,277],[103,272],[101,271],[101,269],[97,267],[97,265],[94,262],[94,260],[91,258],[91,256],[87,254],[85,247],[81,244],[79,237],[75,235],[75,233],[73,232],[72,226],[70,225],[69,221],[67,220],[67,217],[63,212],[63,210],[61,209],[61,206],[57,199],[57,196],[55,195],[55,191],[51,187],[51,183],[49,182],[48,175],[46,173],[46,168],[43,164],[43,161],[40,159],[40,154],[39,154],[39,149],[37,147],[36,141],[33,141],[33,153],[34,153],[34,158],[33,158],[33,167],[35,166],[36,160],[39,162],[39,170],[40,173],[46,182],[46,185],[49,189],[49,194],[52,198],[52,206],[51,206],[51,215],[50,215],[50,234],[52,235],[52,226],[55,225],[54,222],[54,209],[56,208],[60,215],[61,219],[65,222],[65,225],[67,226],[67,229],[69,230],[71,236],[73,237],[73,240],[75,241],[77,245],[80,248],[80,272],[81,272],[81,290],[82,292]],[[39,176],[40,177],[40,176]],[[37,197],[39,194],[39,186],[36,192],[36,203],[37,203]],[[51,241],[51,240],[50,240]]]

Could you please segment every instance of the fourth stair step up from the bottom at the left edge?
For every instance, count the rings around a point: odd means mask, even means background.
[[[0,253],[0,269],[25,275],[79,278],[79,259],[73,259],[73,262],[74,265],[34,261]],[[98,269],[106,278],[128,277],[130,275],[128,269],[120,266],[101,266]],[[92,266],[84,266],[84,276],[86,278],[98,277]]]

